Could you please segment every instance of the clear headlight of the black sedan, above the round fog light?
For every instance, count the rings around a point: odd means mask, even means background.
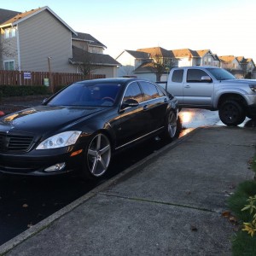
[[[38,145],[36,149],[62,148],[77,142],[82,131],[65,131],[49,137]]]

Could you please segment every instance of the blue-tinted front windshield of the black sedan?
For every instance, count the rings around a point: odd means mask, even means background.
[[[120,84],[78,82],[62,90],[47,105],[49,106],[113,106]]]

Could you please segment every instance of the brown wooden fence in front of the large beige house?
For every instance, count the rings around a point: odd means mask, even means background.
[[[105,79],[102,74],[84,76],[80,73],[49,73],[0,70],[1,85],[49,85],[53,87],[72,84],[81,80]],[[50,82],[50,83],[49,83]]]

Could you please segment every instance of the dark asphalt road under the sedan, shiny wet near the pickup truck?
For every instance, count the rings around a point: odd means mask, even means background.
[[[180,113],[183,130],[180,136],[202,125],[223,125],[218,112],[183,109]],[[246,120],[255,125],[255,121]],[[115,155],[109,177],[124,171],[137,161],[164,147],[161,140],[150,140]],[[1,177],[0,176],[0,245],[19,235],[30,226],[75,201],[96,187],[73,175],[59,177]]]

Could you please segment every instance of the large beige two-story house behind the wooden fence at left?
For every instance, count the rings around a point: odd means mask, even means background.
[[[75,32],[47,6],[25,13],[0,9],[0,30],[0,69],[47,72],[50,65],[51,72],[82,73],[82,51],[90,53],[93,73],[116,77],[119,62],[103,54],[106,46]]]

